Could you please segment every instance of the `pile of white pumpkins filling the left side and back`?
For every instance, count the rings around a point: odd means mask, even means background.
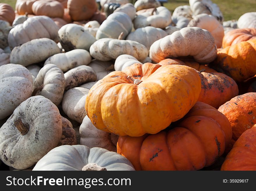
[[[102,7],[108,3],[120,5],[101,25],[59,28],[48,16],[16,16],[13,26],[0,20],[0,159],[10,170],[134,170],[116,153],[118,135],[97,129],[86,116],[90,88],[114,70],[158,63],[166,51],[191,55],[167,44],[179,35],[190,39],[180,43],[201,52],[203,41],[213,37],[221,48],[224,32],[256,20],[246,13],[224,21],[210,0],[190,0],[172,14],[156,0],[101,0]],[[199,42],[191,29],[209,33]],[[197,61],[212,58],[204,59]]]

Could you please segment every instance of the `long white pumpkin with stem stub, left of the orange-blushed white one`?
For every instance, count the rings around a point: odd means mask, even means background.
[[[133,40],[112,38],[101,38],[90,47],[90,55],[101,61],[116,59],[122,54],[129,54],[138,60],[144,60],[148,55],[148,49],[143,44]]]

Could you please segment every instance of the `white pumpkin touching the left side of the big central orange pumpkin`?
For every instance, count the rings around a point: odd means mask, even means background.
[[[62,109],[64,113],[70,118],[80,124],[83,122],[85,113],[85,101],[88,95],[89,89],[76,87],[67,90],[63,96]]]

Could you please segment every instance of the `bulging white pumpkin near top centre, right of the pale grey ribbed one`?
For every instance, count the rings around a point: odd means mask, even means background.
[[[171,12],[166,7],[154,8],[151,12],[147,11],[137,15],[133,20],[134,28],[141,28],[146,26],[154,26],[156,28],[165,28],[171,24]]]

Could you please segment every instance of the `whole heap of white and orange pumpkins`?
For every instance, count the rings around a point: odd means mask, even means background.
[[[173,15],[155,0],[100,4],[17,0],[16,18],[0,4],[0,161],[199,170],[226,156],[222,170],[255,170],[256,14],[236,25],[210,0]]]

